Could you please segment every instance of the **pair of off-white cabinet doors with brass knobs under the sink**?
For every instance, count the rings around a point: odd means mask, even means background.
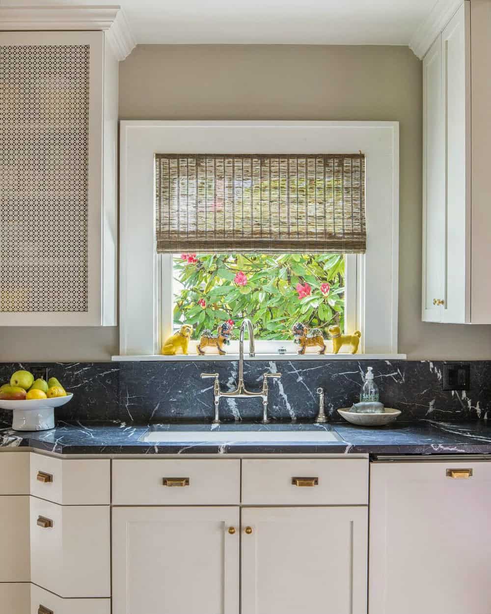
[[[366,507],[112,514],[113,614],[366,614]]]

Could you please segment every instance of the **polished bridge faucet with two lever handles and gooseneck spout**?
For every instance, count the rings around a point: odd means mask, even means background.
[[[244,384],[244,332],[245,327],[247,326],[247,330],[249,332],[249,356],[253,358],[255,356],[254,352],[254,333],[252,330],[252,322],[249,318],[244,317],[242,321],[241,330],[239,333],[239,380],[237,384],[237,388],[232,392],[223,392],[220,389],[220,382],[218,381],[218,373],[201,373],[201,378],[213,378],[213,403],[215,408],[215,417],[213,420],[213,424],[220,424],[220,413],[218,410],[218,406],[220,404],[220,397],[226,398],[251,398],[251,397],[260,397],[263,400],[263,419],[261,422],[263,424],[267,424],[269,422],[268,418],[268,379],[269,378],[280,378],[280,373],[263,373],[263,387],[261,391],[251,392],[247,390]]]

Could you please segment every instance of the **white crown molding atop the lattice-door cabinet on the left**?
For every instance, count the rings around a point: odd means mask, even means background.
[[[120,6],[1,6],[0,31],[102,30],[119,61],[136,47]]]

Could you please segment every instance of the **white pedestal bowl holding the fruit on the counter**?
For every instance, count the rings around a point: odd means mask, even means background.
[[[55,428],[55,407],[61,407],[73,397],[33,398],[30,400],[0,399],[0,409],[14,412],[12,429],[48,430]]]

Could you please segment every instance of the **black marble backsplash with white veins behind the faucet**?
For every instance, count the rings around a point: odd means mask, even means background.
[[[338,408],[358,400],[363,373],[371,365],[386,406],[403,412],[401,421],[432,419],[468,421],[485,419],[491,409],[491,361],[473,361],[468,392],[443,391],[443,362],[429,360],[246,360],[244,380],[259,390],[265,371],[279,371],[281,379],[269,380],[269,416],[277,420],[312,419],[317,413],[315,389],[325,389],[326,411],[333,422],[342,422]],[[219,373],[224,390],[236,385],[236,360],[109,362],[109,363],[0,363],[0,384],[18,369],[36,376],[60,379],[74,393],[67,405],[56,410],[66,422],[166,422],[211,421],[212,380],[201,372]],[[222,399],[224,420],[260,418],[259,399]],[[1,412],[1,410],[0,410]],[[490,414],[491,417],[491,414]],[[2,422],[10,412],[0,413]]]

